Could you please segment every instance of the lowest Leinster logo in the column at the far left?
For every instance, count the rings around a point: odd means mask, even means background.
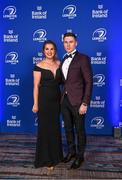
[[[20,105],[20,98],[17,94],[12,94],[7,98],[7,105],[17,107]]]

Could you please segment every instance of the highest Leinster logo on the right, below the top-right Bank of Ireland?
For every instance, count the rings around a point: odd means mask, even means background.
[[[92,40],[104,42],[106,40],[106,33],[107,31],[105,28],[96,29],[92,34]]]

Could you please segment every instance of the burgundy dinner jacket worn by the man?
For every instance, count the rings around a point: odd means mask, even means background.
[[[63,62],[61,63],[61,71]],[[68,69],[67,79],[65,80],[63,72],[62,79],[63,93],[61,102],[64,94],[67,93],[73,106],[79,106],[81,103],[89,105],[92,95],[93,75],[90,58],[87,55],[76,51]]]

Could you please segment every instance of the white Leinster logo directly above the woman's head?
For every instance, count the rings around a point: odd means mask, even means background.
[[[38,29],[33,33],[33,41],[44,42],[47,40],[46,35],[47,32],[45,29]]]

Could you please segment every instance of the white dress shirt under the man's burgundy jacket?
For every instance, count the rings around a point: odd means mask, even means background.
[[[75,56],[75,52],[76,52],[76,49],[74,51],[72,51],[71,53],[67,53],[67,55],[72,55],[72,57],[68,57],[67,59],[64,60],[63,62],[63,65],[62,65],[62,72],[63,72],[63,75],[65,77],[65,79],[67,79],[67,74],[68,74],[68,69],[69,69],[69,66],[72,62],[72,59],[74,58]]]

